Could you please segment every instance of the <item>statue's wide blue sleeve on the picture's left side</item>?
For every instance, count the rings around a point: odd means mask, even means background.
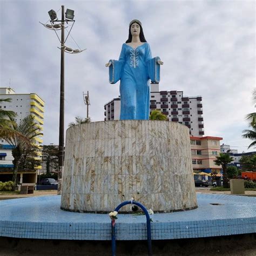
[[[120,78],[122,77],[122,73],[123,73],[123,66],[125,63],[125,46],[124,46],[124,44],[122,46],[119,60],[111,59],[109,62],[111,62],[111,64],[112,64],[109,67],[109,82],[111,84],[115,84],[120,80]]]

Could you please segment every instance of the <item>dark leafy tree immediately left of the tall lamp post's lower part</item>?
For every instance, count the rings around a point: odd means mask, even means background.
[[[46,167],[46,176],[50,176],[52,172],[58,172],[58,147],[54,145],[44,145],[42,151],[42,159]]]

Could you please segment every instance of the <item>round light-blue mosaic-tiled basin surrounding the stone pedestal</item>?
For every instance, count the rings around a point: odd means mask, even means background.
[[[152,239],[213,237],[256,232],[256,198],[197,194],[197,199],[197,209],[151,215]],[[116,224],[117,240],[146,240],[145,222],[145,215],[119,214]],[[111,240],[111,224],[108,214],[60,210],[60,196],[1,200],[0,236]]]

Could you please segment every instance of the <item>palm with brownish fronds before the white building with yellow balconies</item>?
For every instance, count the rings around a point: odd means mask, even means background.
[[[4,139],[12,146],[12,157],[14,160],[12,163],[14,164],[12,181],[14,182],[14,188],[17,182],[17,173],[19,169],[19,165],[21,164],[21,160],[23,155],[31,149],[31,147],[35,146],[36,140],[35,138],[41,133],[41,127],[35,123],[35,119],[32,115],[26,116],[21,120],[21,122],[17,125],[12,126],[12,129],[18,132],[12,134],[12,136],[5,136]],[[19,136],[22,134],[22,137]],[[24,138],[26,138],[24,140]]]

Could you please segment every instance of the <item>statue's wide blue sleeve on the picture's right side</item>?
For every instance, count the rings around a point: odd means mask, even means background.
[[[147,64],[147,75],[151,79],[151,83],[156,84],[160,82],[160,65],[157,63],[159,57],[152,58],[151,50],[148,44],[146,49],[146,64]]]

